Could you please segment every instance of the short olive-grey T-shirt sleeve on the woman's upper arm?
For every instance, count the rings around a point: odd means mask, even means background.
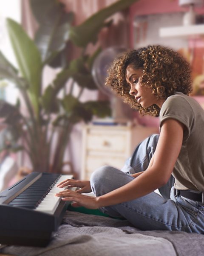
[[[178,122],[181,122],[184,126],[184,141],[186,141],[190,136],[190,131],[192,130],[194,114],[193,109],[189,102],[184,99],[182,96],[170,96],[164,102],[161,107],[159,114],[160,119],[160,129],[162,123],[166,119],[175,119]]]

